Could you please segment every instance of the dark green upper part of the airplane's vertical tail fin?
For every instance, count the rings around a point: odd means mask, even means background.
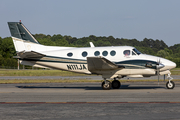
[[[8,26],[12,37],[39,44],[21,22],[8,22]]]

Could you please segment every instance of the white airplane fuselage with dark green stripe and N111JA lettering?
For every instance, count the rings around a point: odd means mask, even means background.
[[[40,59],[21,59],[21,63],[24,65],[31,65],[36,67],[47,67],[54,69],[67,70],[78,73],[92,74],[88,70],[87,57],[104,57],[115,64],[125,66],[124,69],[115,71],[97,71],[96,74],[112,77],[145,77],[156,75],[157,61],[160,61],[164,65],[160,69],[160,74],[169,74],[169,70],[176,67],[176,64],[164,58],[139,54],[133,51],[134,47],[130,46],[108,46],[108,47],[53,47],[44,46],[40,44],[34,44],[24,42],[22,40],[13,40],[14,43],[21,42],[15,45],[16,50],[22,51],[35,51],[46,55]],[[113,52],[112,52],[113,51]],[[129,52],[129,55],[125,55],[125,51]],[[150,64],[150,67],[147,67]]]

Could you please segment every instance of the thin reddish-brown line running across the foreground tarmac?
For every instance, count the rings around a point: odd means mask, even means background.
[[[114,104],[114,103],[118,103],[118,104],[127,104],[127,103],[131,103],[131,104],[166,104],[166,103],[179,103],[180,102],[0,102],[0,104]]]

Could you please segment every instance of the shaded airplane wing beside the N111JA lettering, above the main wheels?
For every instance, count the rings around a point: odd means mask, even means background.
[[[93,72],[96,70],[115,70],[124,68],[124,66],[116,65],[115,63],[103,57],[87,57],[88,70]]]

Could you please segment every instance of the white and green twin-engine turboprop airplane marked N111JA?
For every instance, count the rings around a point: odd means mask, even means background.
[[[176,64],[164,58],[142,54],[130,46],[55,47],[45,46],[31,35],[21,22],[8,22],[16,58],[23,65],[102,75],[102,89],[118,89],[123,77],[168,75],[166,87],[173,89],[170,69]],[[112,83],[106,79],[114,79]]]

